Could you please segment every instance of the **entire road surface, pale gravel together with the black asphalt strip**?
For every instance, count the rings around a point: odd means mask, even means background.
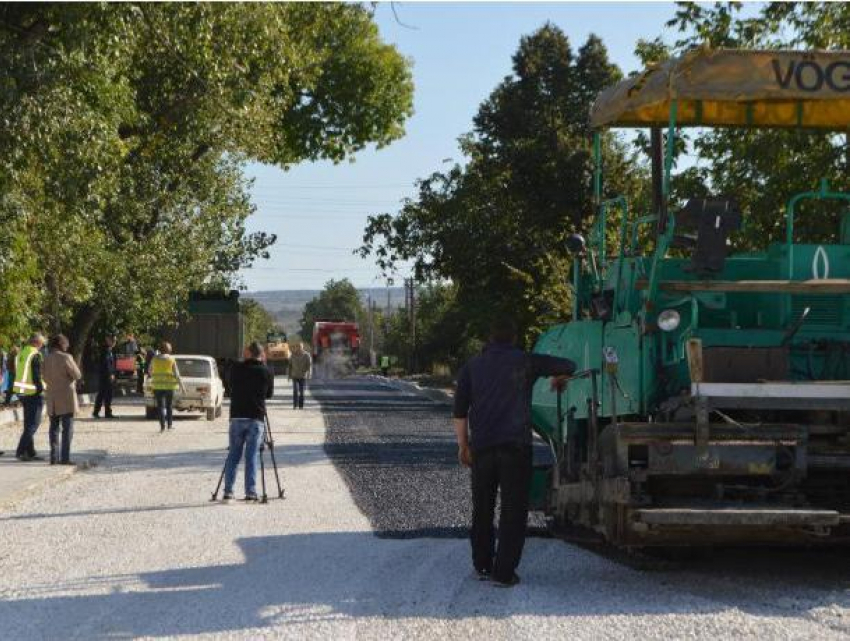
[[[850,638],[846,555],[730,552],[645,572],[533,538],[520,586],[479,583],[465,540],[422,536],[463,525],[445,409],[374,379],[314,393],[302,412],[283,396],[271,407],[287,499],[268,505],[209,501],[224,419],[162,435],[138,406],[81,420],[76,445],[103,463],[0,511],[0,638]],[[392,482],[367,501],[352,479],[375,470]],[[381,521],[381,505],[399,518]],[[396,530],[418,538],[375,536]]]

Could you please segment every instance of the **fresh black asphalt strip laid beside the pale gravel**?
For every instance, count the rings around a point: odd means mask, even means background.
[[[379,537],[467,536],[469,471],[446,405],[381,379],[314,381],[325,451]]]

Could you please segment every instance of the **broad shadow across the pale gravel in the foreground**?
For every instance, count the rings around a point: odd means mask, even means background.
[[[236,543],[242,563],[69,581],[57,577],[22,588],[14,599],[0,602],[3,634],[49,638],[61,621],[62,630],[86,639],[258,636],[268,626],[275,630],[267,633],[297,638],[330,633],[332,628],[320,626],[341,620],[345,626],[352,618],[666,617],[731,608],[799,620],[823,608],[850,606],[850,579],[834,559],[817,555],[797,557],[791,573],[783,572],[783,565],[741,559],[723,568],[723,576],[717,576],[720,568],[701,575],[648,575],[538,541],[529,546],[523,584],[503,591],[470,576],[468,549],[459,542],[376,545],[369,533],[331,532]],[[98,593],[85,594],[92,591]],[[819,619],[824,632],[844,629],[837,617],[834,623]],[[357,636],[352,628],[342,630]]]

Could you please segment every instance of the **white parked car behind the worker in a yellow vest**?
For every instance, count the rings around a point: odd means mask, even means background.
[[[177,371],[183,381],[185,391],[174,392],[174,409],[183,412],[203,412],[208,421],[221,416],[224,402],[224,383],[218,374],[218,367],[212,356],[194,354],[175,354]],[[150,377],[145,380],[145,416],[156,418],[156,401],[150,385]]]

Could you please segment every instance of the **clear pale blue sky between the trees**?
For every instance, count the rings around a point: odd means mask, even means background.
[[[288,172],[250,165],[257,213],[249,228],[278,235],[271,258],[243,278],[251,291],[320,289],[331,278],[380,287],[374,263],[352,255],[366,217],[395,212],[415,194],[414,181],[460,161],[457,138],[471,128],[481,101],[511,72],[521,36],[546,21],[558,25],[574,50],[588,34],[600,36],[611,59],[628,73],[638,68],[639,38],[664,35],[672,3],[396,3],[380,4],[376,19],[385,41],[413,61],[415,114],[401,140],[366,149],[352,163],[299,165]]]

